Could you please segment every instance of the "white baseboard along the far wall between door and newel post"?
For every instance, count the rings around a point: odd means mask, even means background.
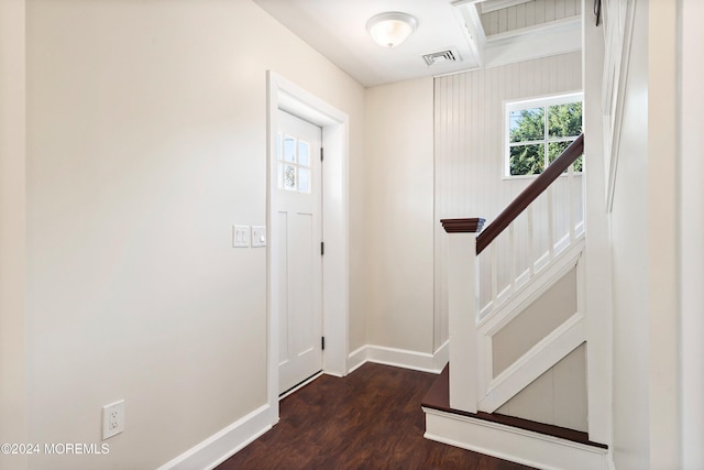
[[[353,372],[366,362],[394,365],[421,372],[440,373],[450,358],[449,341],[446,341],[435,354],[409,351],[407,349],[386,348],[384,346],[365,345],[350,353],[348,373]]]

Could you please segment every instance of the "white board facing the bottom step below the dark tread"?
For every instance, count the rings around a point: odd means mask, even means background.
[[[608,470],[608,450],[424,407],[427,439],[539,469]]]

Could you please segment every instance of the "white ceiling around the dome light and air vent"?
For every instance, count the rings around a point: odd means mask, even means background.
[[[438,76],[480,66],[579,50],[579,21],[560,22],[552,35],[503,35],[492,43],[484,36],[474,3],[482,0],[254,0],[332,63],[365,87],[426,76]],[[521,3],[515,0],[488,0]],[[393,50],[378,46],[366,32],[375,14],[402,11],[418,20],[416,32]],[[557,23],[557,22],[556,22]],[[546,30],[544,28],[540,29]],[[521,32],[518,32],[521,33]],[[564,36],[565,34],[569,37]],[[564,37],[563,37],[564,36]],[[530,42],[532,41],[532,43]],[[422,56],[446,50],[459,53],[458,62],[426,65]],[[554,51],[552,51],[554,50]]]

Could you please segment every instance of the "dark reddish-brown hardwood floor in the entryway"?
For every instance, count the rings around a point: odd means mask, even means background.
[[[284,398],[280,422],[217,470],[529,469],[425,439],[420,401],[436,379],[373,363],[322,375]]]

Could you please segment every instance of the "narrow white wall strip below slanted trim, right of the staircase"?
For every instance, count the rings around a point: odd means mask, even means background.
[[[613,420],[618,469],[649,468],[648,4],[636,9],[610,215]]]

